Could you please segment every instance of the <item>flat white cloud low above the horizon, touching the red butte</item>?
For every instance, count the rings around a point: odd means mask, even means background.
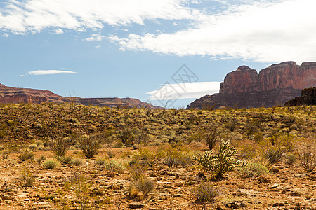
[[[185,90],[178,84],[160,85],[158,90],[147,92],[150,94],[149,99],[168,100],[168,99],[196,99],[206,94],[219,92],[220,82],[197,82],[185,83]],[[166,95],[167,93],[167,95]]]

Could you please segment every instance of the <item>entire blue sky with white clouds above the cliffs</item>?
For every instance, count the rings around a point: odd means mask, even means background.
[[[315,0],[2,0],[0,83],[185,108],[238,66],[316,61]]]

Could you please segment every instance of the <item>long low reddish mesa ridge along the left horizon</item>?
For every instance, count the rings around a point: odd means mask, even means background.
[[[131,98],[79,98],[79,97],[62,97],[48,90],[36,90],[29,88],[17,88],[17,87],[7,87],[6,85],[0,84],[0,104],[20,104],[20,103],[32,103],[41,104],[43,102],[74,102],[83,105],[96,105],[96,106],[109,106],[122,108],[142,108],[151,107],[158,108],[157,106],[152,106],[148,103],[141,102],[138,99]]]

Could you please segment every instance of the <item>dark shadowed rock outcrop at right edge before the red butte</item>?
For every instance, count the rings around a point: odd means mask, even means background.
[[[316,105],[316,87],[302,90],[302,96],[291,99],[284,106]]]

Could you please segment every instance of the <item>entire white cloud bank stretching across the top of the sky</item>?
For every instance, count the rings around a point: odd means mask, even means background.
[[[316,60],[315,0],[7,0],[2,5],[0,30],[7,38],[44,29],[54,34],[93,29],[100,34],[85,41],[107,38],[121,50],[268,63]],[[125,35],[127,25],[159,27],[159,20],[183,27]],[[105,25],[124,33],[102,34]]]

